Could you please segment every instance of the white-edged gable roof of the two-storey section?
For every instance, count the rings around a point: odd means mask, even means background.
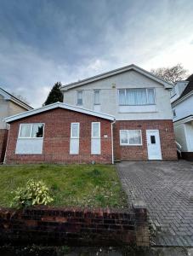
[[[131,64],[131,65],[128,65],[128,66],[125,66],[125,67],[120,67],[120,68],[114,69],[114,70],[106,72],[106,73],[101,73],[99,75],[96,75],[94,77],[90,77],[88,79],[82,79],[82,80],[77,81],[75,83],[65,84],[61,87],[61,90],[69,90],[71,88],[75,88],[75,87],[78,87],[78,86],[81,86],[81,85],[84,85],[84,84],[89,84],[89,83],[92,83],[94,81],[98,81],[100,79],[109,78],[109,77],[114,76],[116,74],[124,73],[124,72],[130,71],[130,70],[134,70],[138,73],[141,73],[141,74],[145,75],[146,77],[148,77],[152,80],[155,80],[156,82],[162,84],[166,89],[173,88],[173,84],[170,84],[167,81],[156,77],[156,75],[146,71],[145,69],[143,69],[141,67],[138,67],[134,64]]]

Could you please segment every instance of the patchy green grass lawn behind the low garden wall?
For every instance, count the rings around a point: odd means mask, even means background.
[[[30,178],[43,180],[54,206],[127,207],[114,166],[0,166],[0,206],[9,207],[14,191]]]

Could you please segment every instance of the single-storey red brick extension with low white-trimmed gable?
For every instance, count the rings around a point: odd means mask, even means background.
[[[114,119],[60,102],[16,114],[4,163],[112,163]]]

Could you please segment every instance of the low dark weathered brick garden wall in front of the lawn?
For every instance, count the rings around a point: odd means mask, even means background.
[[[145,208],[118,212],[110,209],[33,207],[0,208],[0,244],[149,246]]]

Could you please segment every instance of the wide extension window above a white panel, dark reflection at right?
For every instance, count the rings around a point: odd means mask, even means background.
[[[19,137],[20,138],[42,138],[43,124],[21,124]]]

